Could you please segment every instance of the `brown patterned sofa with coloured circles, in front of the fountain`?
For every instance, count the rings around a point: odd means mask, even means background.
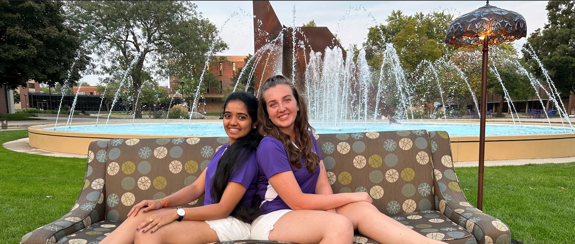
[[[507,224],[471,206],[463,196],[445,131],[315,137],[334,193],[366,191],[381,212],[447,243],[510,243]],[[74,206],[62,218],[24,235],[21,242],[98,243],[126,218],[133,204],[193,183],[228,141],[202,137],[91,142],[86,179]],[[202,197],[185,207],[203,202]],[[355,243],[377,242],[356,235]]]

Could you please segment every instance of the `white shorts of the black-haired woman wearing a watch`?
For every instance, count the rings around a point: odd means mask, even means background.
[[[206,223],[216,231],[220,242],[250,239],[250,224],[228,216],[224,219],[206,220]]]

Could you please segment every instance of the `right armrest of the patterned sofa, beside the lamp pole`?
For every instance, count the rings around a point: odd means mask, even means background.
[[[435,209],[473,234],[477,243],[510,243],[507,224],[473,207],[463,195],[453,168],[447,132],[428,133],[434,168]]]

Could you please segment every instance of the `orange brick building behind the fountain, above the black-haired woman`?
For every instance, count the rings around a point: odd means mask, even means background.
[[[235,84],[232,84],[232,78],[236,75],[239,68],[243,68],[246,63],[244,59],[246,56],[223,56],[227,61],[217,62],[209,65],[209,72],[216,76],[218,84],[216,86],[210,85],[206,87],[202,85],[202,90],[200,94],[202,98],[198,100],[197,110],[198,112],[221,112],[221,107],[224,104],[225,96],[228,92],[233,89]],[[170,77],[170,88],[178,87],[178,78]],[[181,91],[180,91],[181,92]],[[180,97],[181,94],[175,95],[175,89],[170,90],[170,97]],[[186,98],[188,97],[187,94]],[[204,105],[205,103],[205,105]]]

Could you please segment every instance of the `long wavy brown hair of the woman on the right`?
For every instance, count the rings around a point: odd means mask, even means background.
[[[282,133],[278,126],[274,125],[269,118],[269,113],[267,113],[267,103],[264,99],[264,95],[266,94],[266,90],[269,88],[275,87],[278,84],[285,84],[292,88],[292,93],[294,98],[297,101],[297,105],[300,108],[296,115],[296,121],[294,122],[294,130],[296,134],[296,138],[292,138],[294,144],[297,145],[297,149],[292,144],[292,140],[290,140],[290,136]],[[287,157],[289,158],[289,163],[292,165],[292,168],[301,168],[301,157],[305,158],[305,166],[308,168],[309,172],[316,172],[317,165],[320,163],[320,157],[312,151],[312,138],[311,134],[315,133],[315,129],[309,124],[308,119],[308,106],[305,103],[305,99],[300,96],[297,92],[296,87],[293,86],[291,80],[287,79],[283,75],[275,75],[267,78],[266,81],[260,87],[259,92],[259,107],[258,107],[258,125],[259,125],[259,133],[262,135],[269,135],[279,141],[282,142],[283,146],[285,146],[287,150]],[[309,132],[310,131],[310,132]]]

